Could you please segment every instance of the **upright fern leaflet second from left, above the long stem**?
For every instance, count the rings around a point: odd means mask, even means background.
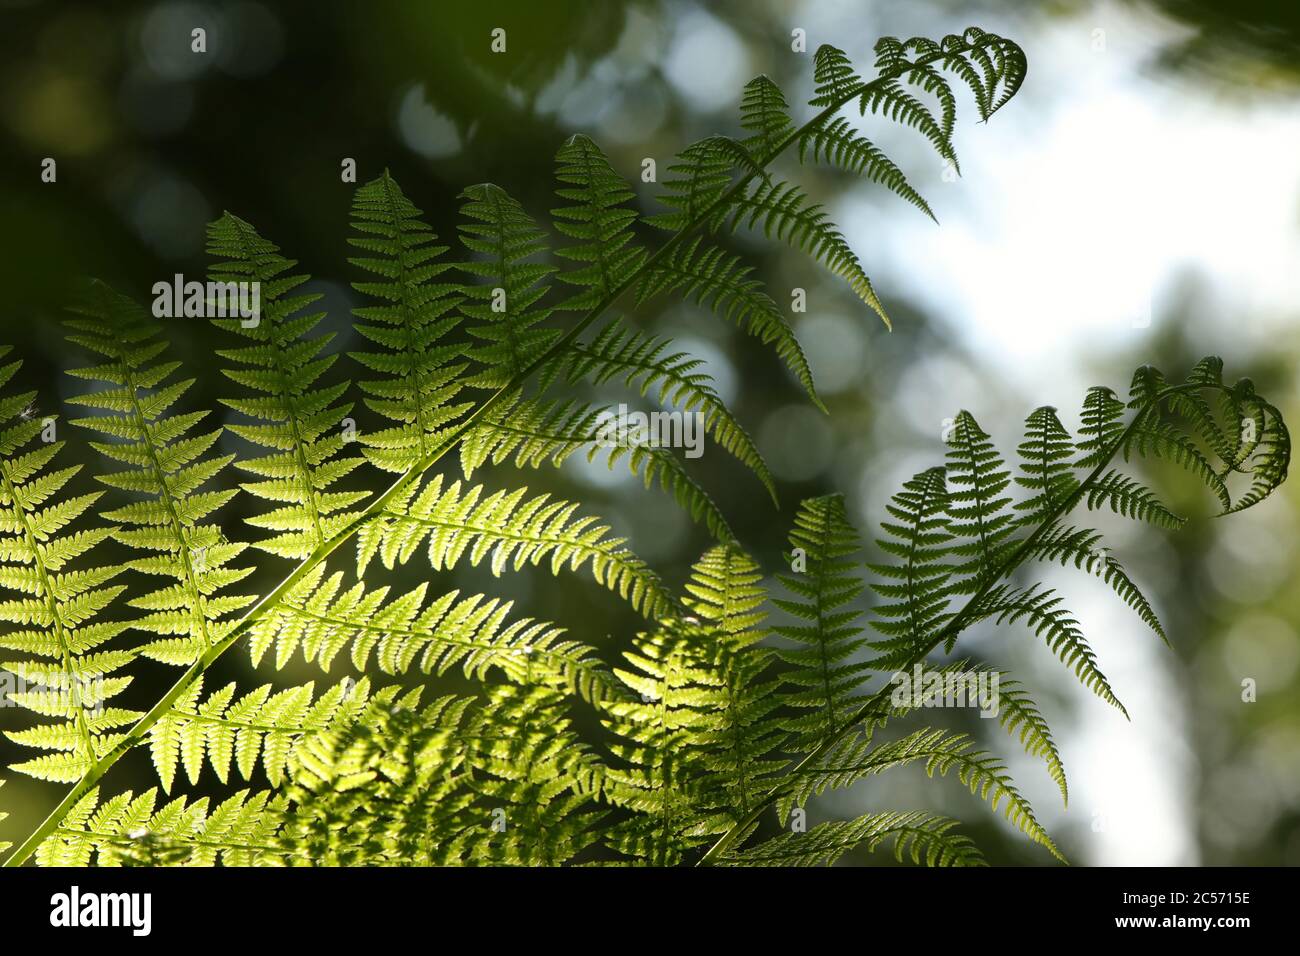
[[[190,434],[208,412],[168,414],[194,385],[194,378],[166,384],[177,362],[155,362],[166,349],[159,326],[136,303],[94,284],[74,308],[81,319],[69,341],[107,359],[70,375],[109,388],[72,395],[68,402],[99,415],[73,424],[99,432],[109,441],[91,446],[127,466],[99,475],[105,485],[133,496],[131,503],[105,511],[118,523],[113,537],[147,557],[129,567],[162,578],[168,584],[129,602],[144,614],[131,627],[157,635],[139,653],[172,665],[190,665],[233,627],[229,617],[255,601],[251,596],[221,593],[252,572],[230,567],[247,545],[229,541],[211,520],[237,489],[202,490],[234,459],[213,455],[221,428]]]

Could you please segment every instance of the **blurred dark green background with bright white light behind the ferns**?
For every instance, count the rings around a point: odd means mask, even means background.
[[[199,277],[204,224],[229,208],[315,276],[335,347],[347,349],[356,303],[343,159],[356,160],[361,181],[390,168],[445,238],[458,193],[480,181],[543,219],[554,151],[573,131],[638,179],[644,157],[663,169],[692,139],[734,133],[741,85],[755,73],[798,103],[819,43],[866,68],[880,35],[937,38],[967,25],[1019,42],[1030,78],[987,127],[959,124],[965,178],[949,182],[906,133],[883,138],[942,225],[868,183],[829,172],[812,179],[890,307],[893,333],[803,258],[740,239],[779,300],[807,290],[809,310],[794,319],[829,416],[766,350],[701,310],[636,317],[707,359],[783,483],[777,511],[727,455],[692,463],[741,544],[776,568],[793,505],[831,490],[848,496],[866,529],[901,480],[939,462],[958,408],[1009,454],[1031,407],[1075,410],[1087,385],[1123,389],[1144,363],[1182,375],[1221,354],[1230,375],[1252,376],[1300,421],[1300,7],[1291,0],[0,0],[0,337],[26,359],[39,412],[57,411],[70,384],[62,369],[86,364],[58,325],[74,277],[103,277],[142,300],[173,273]],[[205,55],[190,51],[195,26],[207,30]],[[490,52],[495,27],[507,31],[506,53]],[[793,29],[806,30],[807,53],[792,51]],[[57,160],[56,183],[40,182],[44,157]],[[654,187],[637,189],[651,208]],[[211,356],[216,330],[190,319],[168,330],[199,375],[190,407],[217,407],[228,389]],[[61,437],[73,440],[65,463],[101,466],[82,436]],[[585,499],[671,581],[707,546],[668,498],[621,472],[573,460],[529,477]],[[1221,523],[1176,473],[1156,480],[1193,522],[1174,536],[1115,525],[1113,548],[1148,585],[1174,650],[1100,583],[1061,575],[1131,723],[1074,687],[1024,633],[974,633],[965,648],[1039,688],[1071,771],[1069,810],[988,722],[939,717],[1008,754],[1076,862],[1300,864],[1296,485]],[[238,505],[226,520],[239,520]],[[413,585],[416,568],[394,587]],[[286,570],[259,559],[255,589]],[[611,658],[638,626],[578,579],[455,578],[448,584],[510,593]],[[140,665],[131,693],[146,705],[174,672]],[[270,666],[254,675],[234,652],[208,685],[252,687],[273,679]],[[274,679],[311,678],[290,666]],[[1257,682],[1257,702],[1242,701],[1244,679]],[[0,710],[0,727],[18,719]],[[110,777],[114,791],[151,783],[143,753]],[[12,779],[5,835],[35,825],[58,796]],[[914,805],[968,821],[994,862],[1046,862],[959,784],[920,773],[828,797],[810,808],[810,823]]]

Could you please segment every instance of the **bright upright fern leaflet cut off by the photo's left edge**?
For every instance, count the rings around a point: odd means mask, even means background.
[[[0,356],[8,352],[8,346],[0,347]],[[8,384],[21,364],[0,367],[0,385]],[[64,442],[47,441],[23,450],[38,436],[48,436],[47,428],[53,425],[53,419],[30,414],[35,394],[0,398],[0,587],[10,592],[0,600],[0,620],[9,626],[0,635],[0,648],[22,656],[0,666],[17,679],[6,680],[3,702],[30,710],[42,722],[5,736],[46,752],[10,763],[12,770],[70,783],[113,748],[121,740],[120,731],[139,717],[134,710],[105,706],[131,683],[118,671],[136,652],[105,646],[129,624],[95,620],[125,589],[109,584],[121,567],[69,567],[116,528],[64,531],[101,493],[56,497],[81,471],[81,466],[47,471]],[[17,597],[10,596],[14,592]]]

